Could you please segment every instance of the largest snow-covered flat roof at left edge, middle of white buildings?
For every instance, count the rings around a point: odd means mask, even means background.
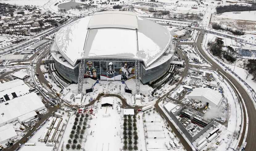
[[[10,101],[0,104],[0,126],[6,122],[15,121],[19,116],[32,111],[40,111],[45,109],[42,100],[36,93],[29,93],[21,97],[16,97]]]

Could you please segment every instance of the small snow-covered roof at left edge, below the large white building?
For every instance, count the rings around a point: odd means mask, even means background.
[[[5,143],[5,141],[16,136],[17,133],[15,132],[11,124],[7,124],[0,127],[0,144]]]

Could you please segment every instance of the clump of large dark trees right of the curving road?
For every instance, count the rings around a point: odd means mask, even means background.
[[[221,58],[225,58],[229,62],[236,61],[236,50],[234,50],[232,47],[227,46],[227,50],[223,51],[224,42],[217,38],[216,42],[208,42],[207,46],[209,47],[210,51],[213,53],[214,56],[217,56]]]

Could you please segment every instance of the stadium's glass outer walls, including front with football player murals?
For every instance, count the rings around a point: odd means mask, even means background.
[[[147,84],[150,81],[154,81],[161,77],[169,69],[170,61],[171,59],[149,70],[145,70],[143,63],[141,62],[141,82]],[[77,83],[80,64],[76,65],[74,69],[70,69],[55,60],[55,65],[59,74],[67,80]],[[121,81],[135,78],[135,61],[111,58],[86,60],[84,78],[88,77],[95,80],[99,79],[101,81]]]

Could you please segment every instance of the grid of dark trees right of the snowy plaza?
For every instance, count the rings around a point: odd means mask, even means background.
[[[127,118],[128,117],[128,118]],[[136,115],[133,116],[133,119],[131,118],[131,115],[124,115],[124,123],[123,123],[123,139],[124,139],[124,150],[138,150],[138,133],[137,133],[137,125],[136,125],[137,119]],[[133,132],[132,132],[133,130]],[[128,133],[127,133],[128,131]],[[133,135],[133,137],[132,137]],[[134,141],[132,141],[133,139]],[[132,146],[134,144],[134,146]]]

